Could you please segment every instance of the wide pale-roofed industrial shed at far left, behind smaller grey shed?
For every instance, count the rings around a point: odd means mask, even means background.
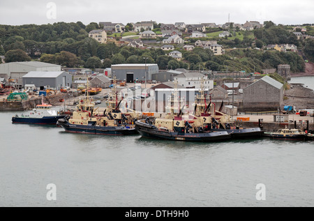
[[[30,71],[61,71],[61,66],[40,61],[22,61],[0,64],[0,77],[15,79],[22,84],[22,77]]]

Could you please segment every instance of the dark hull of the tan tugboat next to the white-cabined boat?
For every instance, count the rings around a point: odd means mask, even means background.
[[[130,128],[128,125],[109,127],[96,125],[77,125],[71,124],[66,119],[59,119],[57,125],[61,126],[66,132],[83,133],[91,135],[135,135],[137,131],[135,128]]]

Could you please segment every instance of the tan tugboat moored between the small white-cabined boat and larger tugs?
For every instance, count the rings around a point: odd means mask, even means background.
[[[87,93],[87,99],[80,101],[77,110],[73,112],[73,116],[59,119],[57,125],[60,125],[66,132],[95,135],[136,134],[133,119],[130,115],[122,114],[119,110],[120,102],[115,105],[114,109],[107,107],[102,115],[94,114],[95,105]]]

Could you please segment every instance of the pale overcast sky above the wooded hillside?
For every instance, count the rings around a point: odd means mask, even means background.
[[[54,4],[48,4],[48,3]],[[54,13],[54,6],[56,10]],[[0,24],[54,22],[185,22],[199,24],[273,21],[276,24],[314,23],[313,0],[0,0]],[[55,17],[55,18],[54,18]]]

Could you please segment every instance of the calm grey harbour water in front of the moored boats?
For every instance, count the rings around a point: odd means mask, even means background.
[[[314,142],[76,135],[12,116],[0,112],[0,206],[314,206]]]

